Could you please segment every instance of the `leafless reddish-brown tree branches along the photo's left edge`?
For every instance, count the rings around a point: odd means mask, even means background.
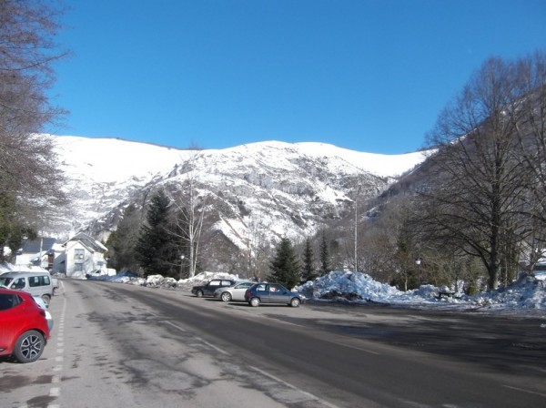
[[[0,1],[0,191],[13,204],[0,209],[0,257],[7,241],[41,229],[66,203],[53,141],[38,135],[64,113],[45,94],[55,80],[51,63],[64,55],[53,42],[61,12],[54,2]]]

